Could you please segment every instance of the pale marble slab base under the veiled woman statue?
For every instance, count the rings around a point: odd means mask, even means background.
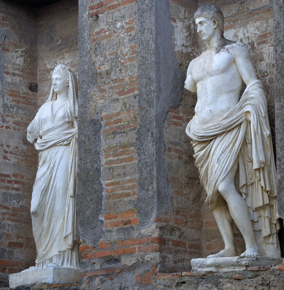
[[[28,284],[61,284],[78,281],[80,281],[80,272],[65,267],[27,269],[9,275],[10,288]]]

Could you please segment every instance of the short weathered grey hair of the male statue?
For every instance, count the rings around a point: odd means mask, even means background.
[[[220,31],[220,34],[224,33],[224,15],[221,9],[214,5],[202,5],[194,13],[194,20],[199,17],[205,17],[209,21],[216,20],[218,25],[217,28]]]

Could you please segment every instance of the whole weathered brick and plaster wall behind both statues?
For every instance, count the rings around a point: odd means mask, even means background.
[[[193,20],[203,4],[219,6],[224,36],[248,46],[274,142],[273,1],[65,0],[37,10],[0,1],[0,287],[9,273],[34,264],[29,207],[37,154],[26,127],[59,63],[71,66],[79,84],[82,279],[25,290],[283,285],[283,265],[224,276],[188,272],[192,258],[223,247],[185,134],[197,96],[182,88],[189,62],[204,49]]]

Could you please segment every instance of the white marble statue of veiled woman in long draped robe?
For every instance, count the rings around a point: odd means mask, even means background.
[[[76,230],[77,79],[60,64],[52,74],[49,98],[27,129],[39,152],[31,201],[36,268],[78,269]]]

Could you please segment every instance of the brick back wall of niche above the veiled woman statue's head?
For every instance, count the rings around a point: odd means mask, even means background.
[[[58,64],[78,71],[78,1],[64,0],[37,10],[38,106],[51,88],[51,73]]]

